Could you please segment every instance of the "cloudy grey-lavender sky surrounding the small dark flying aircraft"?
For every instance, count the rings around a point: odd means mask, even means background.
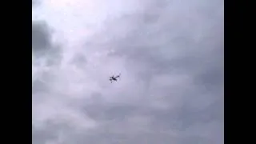
[[[32,2],[33,144],[224,143],[223,0]]]

